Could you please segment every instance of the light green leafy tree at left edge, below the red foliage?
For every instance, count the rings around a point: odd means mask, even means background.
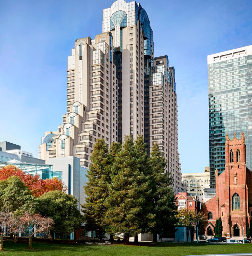
[[[11,176],[0,181],[0,207],[20,216],[24,212],[34,213],[35,197],[20,177]]]

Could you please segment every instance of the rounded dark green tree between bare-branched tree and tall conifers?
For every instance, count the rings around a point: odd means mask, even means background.
[[[44,193],[36,200],[37,212],[52,218],[54,225],[51,231],[57,234],[71,234],[84,221],[77,208],[78,199],[72,195],[55,190]]]

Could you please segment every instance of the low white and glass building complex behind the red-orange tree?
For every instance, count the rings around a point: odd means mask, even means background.
[[[74,156],[58,157],[45,160],[32,156],[32,153],[21,150],[17,144],[0,142],[0,168],[15,165],[26,174],[38,174],[42,179],[58,178],[67,186],[67,193],[78,199],[78,209],[84,204],[86,194],[83,186],[88,181],[87,168],[80,166],[80,159]]]

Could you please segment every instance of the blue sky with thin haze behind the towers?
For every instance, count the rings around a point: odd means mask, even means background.
[[[66,113],[67,57],[112,1],[0,0],[0,141],[37,157]],[[154,55],[175,67],[181,172],[209,166],[207,55],[252,44],[251,0],[144,0]]]

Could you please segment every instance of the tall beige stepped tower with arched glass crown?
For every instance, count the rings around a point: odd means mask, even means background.
[[[135,1],[115,1],[103,10],[102,34],[75,41],[68,57],[67,112],[39,145],[39,158],[76,156],[89,167],[92,146],[124,135],[144,135],[148,152],[160,145],[175,193],[181,182],[177,142],[175,69],[168,56],[154,57],[153,31]]]

